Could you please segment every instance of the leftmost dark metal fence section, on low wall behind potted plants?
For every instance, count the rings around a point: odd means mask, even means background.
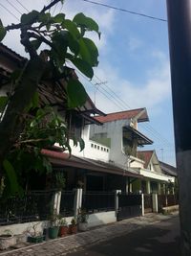
[[[0,225],[47,220],[54,193],[32,191],[22,197],[0,198]]]

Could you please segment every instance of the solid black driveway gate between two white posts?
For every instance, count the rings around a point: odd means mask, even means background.
[[[140,216],[142,214],[141,201],[141,195],[118,194],[117,221]]]

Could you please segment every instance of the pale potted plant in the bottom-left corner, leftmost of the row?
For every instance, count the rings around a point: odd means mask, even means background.
[[[16,238],[12,235],[10,229],[6,229],[2,235],[0,235],[0,249],[4,250],[16,244]]]

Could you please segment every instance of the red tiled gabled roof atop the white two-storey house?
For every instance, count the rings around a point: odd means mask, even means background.
[[[101,123],[112,122],[112,121],[123,120],[123,119],[131,119],[136,117],[144,109],[145,108],[138,108],[138,109],[120,111],[115,113],[109,113],[106,116],[96,116],[95,119]],[[141,116],[138,117],[138,122],[145,122],[148,120],[149,118],[145,109],[145,111],[141,114]]]

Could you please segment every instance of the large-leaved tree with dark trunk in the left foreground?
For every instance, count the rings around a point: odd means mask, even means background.
[[[86,37],[90,31],[100,37],[98,25],[83,13],[76,14],[73,20],[67,19],[65,13],[53,16],[49,11],[58,2],[63,0],[51,1],[40,12],[24,13],[18,24],[4,26],[0,20],[0,41],[8,32],[20,30],[21,44],[30,56],[29,60],[23,59],[20,70],[11,74],[10,95],[0,97],[0,179],[4,178],[10,194],[21,193],[20,179],[32,169],[52,171],[41,149],[57,142],[63,151],[71,152],[69,128],[53,108],[40,105],[38,84],[43,81],[55,86],[56,81],[64,80],[65,105],[70,110],[84,105],[87,93],[68,63],[89,79],[98,64],[96,45]],[[80,138],[79,144],[83,149]]]

